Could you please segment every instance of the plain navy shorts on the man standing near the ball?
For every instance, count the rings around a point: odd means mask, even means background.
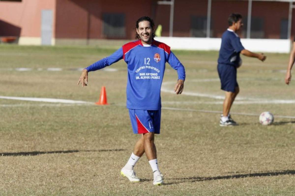
[[[228,92],[235,92],[237,83],[237,68],[231,65],[218,64],[217,71],[221,82],[221,89]]]

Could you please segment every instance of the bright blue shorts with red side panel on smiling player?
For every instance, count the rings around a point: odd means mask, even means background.
[[[134,134],[160,133],[161,110],[129,109],[129,115]]]

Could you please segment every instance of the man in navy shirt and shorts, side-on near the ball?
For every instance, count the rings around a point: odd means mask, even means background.
[[[240,37],[237,35],[237,32],[243,26],[242,16],[240,14],[230,14],[228,24],[228,29],[222,34],[217,65],[221,89],[225,91],[223,111],[219,122],[220,126],[237,125],[230,116],[230,108],[240,91],[237,83],[237,68],[242,62],[240,53],[248,57],[258,58],[260,61],[266,59],[263,53],[253,53],[242,46]]]

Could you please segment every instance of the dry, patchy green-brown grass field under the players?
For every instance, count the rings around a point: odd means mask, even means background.
[[[117,71],[89,73],[89,86],[76,85],[78,68],[113,51],[0,45],[0,96],[96,102],[106,86],[110,103],[0,99],[0,195],[295,195],[295,119],[258,122],[263,111],[295,116],[294,103],[286,103],[294,101],[294,84],[284,84],[288,54],[269,53],[264,63],[242,57],[232,113],[257,116],[233,114],[237,127],[219,127],[219,113],[162,110],[155,144],[165,185],[157,187],[145,156],[135,166],[142,182],[119,175],[139,137],[125,108],[124,61],[110,67]],[[221,111],[218,52],[174,53],[186,68],[185,88],[170,93],[177,74],[167,64],[162,106]]]

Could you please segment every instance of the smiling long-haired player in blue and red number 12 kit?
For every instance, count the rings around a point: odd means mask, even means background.
[[[132,182],[140,179],[134,172],[134,166],[145,153],[153,170],[153,184],[163,184],[163,175],[158,167],[157,151],[154,143],[155,134],[160,133],[161,98],[160,89],[168,62],[177,71],[178,80],[174,92],[181,94],[185,80],[185,70],[170,47],[154,40],[154,22],[150,17],[143,16],[136,22],[137,41],[123,45],[111,56],[101,59],[83,69],[78,84],[87,86],[88,72],[110,66],[124,59],[127,63],[127,108],[133,133],[141,134],[135,143],[134,150],[121,170],[121,175]]]

